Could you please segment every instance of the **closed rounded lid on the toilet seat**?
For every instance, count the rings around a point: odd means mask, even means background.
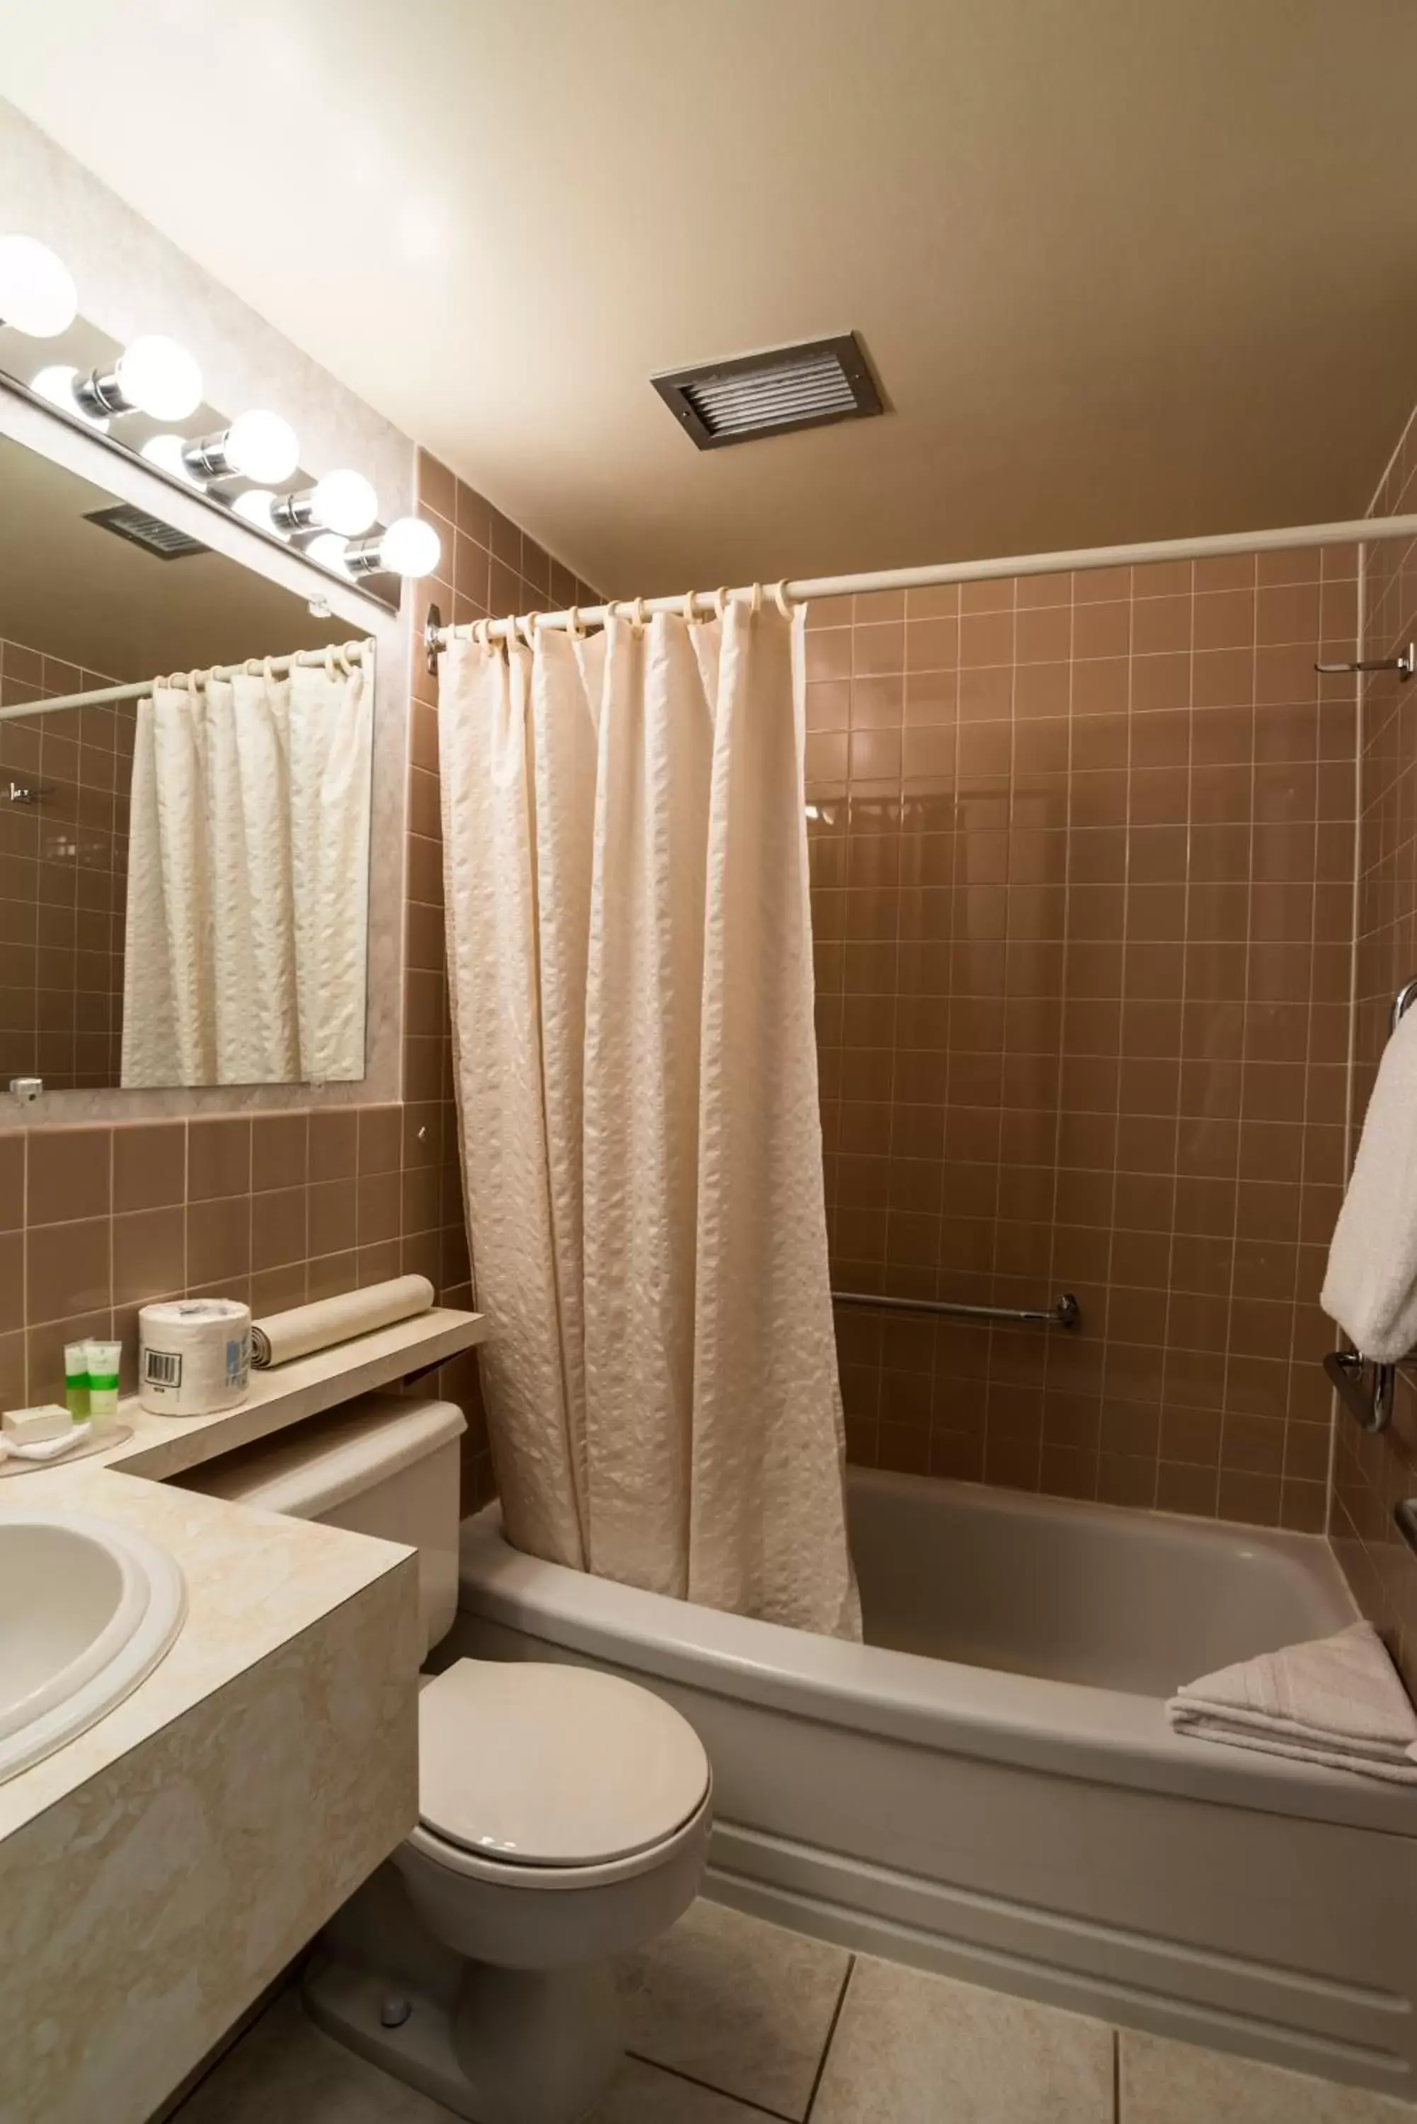
[[[419,1695],[419,1814],[482,1858],[629,1858],[671,1837],[707,1786],[688,1720],[614,1674],[459,1659]]]

